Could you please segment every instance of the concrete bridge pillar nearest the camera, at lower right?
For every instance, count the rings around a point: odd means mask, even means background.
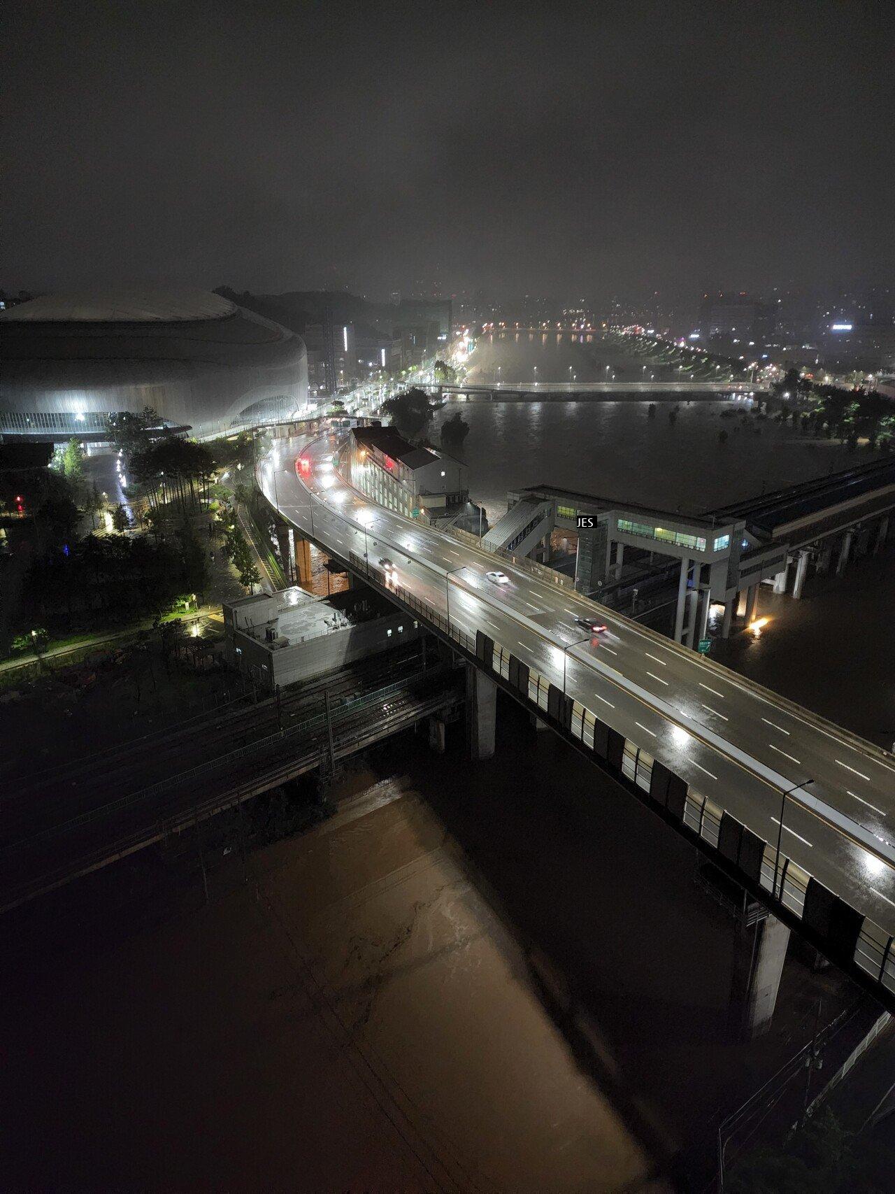
[[[730,987],[732,1027],[752,1040],[771,1027],[777,991],[786,960],[789,929],[767,916],[747,929],[737,929]]]

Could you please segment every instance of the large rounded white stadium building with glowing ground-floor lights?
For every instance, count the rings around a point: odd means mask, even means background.
[[[307,412],[301,337],[203,290],[48,295],[0,313],[0,437],[101,439],[149,406],[197,437]]]

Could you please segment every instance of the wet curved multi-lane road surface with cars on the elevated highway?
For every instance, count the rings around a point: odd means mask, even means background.
[[[278,441],[258,480],[284,518],[495,644],[637,743],[780,855],[895,935],[895,758],[574,590],[376,505],[339,441]],[[499,568],[510,584],[486,573]],[[601,618],[591,638],[578,616]],[[784,798],[784,793],[786,794]],[[780,827],[782,802],[783,826]]]

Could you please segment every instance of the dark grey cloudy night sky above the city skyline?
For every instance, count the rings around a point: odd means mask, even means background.
[[[0,285],[891,282],[894,12],[7,0]]]

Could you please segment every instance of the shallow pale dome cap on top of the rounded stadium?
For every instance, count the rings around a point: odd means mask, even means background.
[[[0,319],[43,324],[175,324],[223,319],[236,310],[228,298],[190,287],[119,287],[44,295],[0,313]]]

